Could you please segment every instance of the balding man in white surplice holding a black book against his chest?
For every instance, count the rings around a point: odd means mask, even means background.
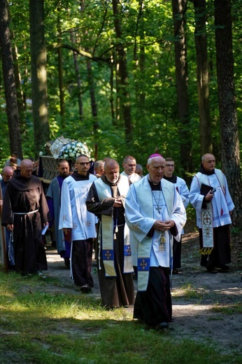
[[[227,264],[231,262],[229,225],[234,203],[225,174],[215,168],[213,154],[202,156],[199,172],[192,179],[189,199],[197,214],[201,266],[209,273],[227,272]]]

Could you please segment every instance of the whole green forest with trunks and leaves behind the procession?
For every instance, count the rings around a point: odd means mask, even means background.
[[[240,225],[241,41],[240,0],[0,0],[0,167],[64,136],[189,184],[209,152]]]

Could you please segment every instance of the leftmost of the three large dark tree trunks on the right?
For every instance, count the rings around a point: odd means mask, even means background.
[[[178,118],[180,120],[180,165],[184,171],[192,172],[192,141],[190,136],[189,97],[187,90],[187,45],[185,40],[185,7],[187,1],[172,0],[175,37],[176,89]],[[185,178],[185,176],[184,176]]]

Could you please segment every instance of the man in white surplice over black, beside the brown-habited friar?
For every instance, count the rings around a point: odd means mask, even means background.
[[[75,167],[76,171],[62,183],[59,229],[63,229],[66,239],[71,239],[71,277],[83,293],[88,293],[94,285],[91,268],[97,218],[87,211],[85,201],[97,177],[89,174],[86,155],[77,158]]]

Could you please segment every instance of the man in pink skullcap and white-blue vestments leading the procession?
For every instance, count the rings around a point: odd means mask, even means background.
[[[125,218],[138,254],[138,292],[134,318],[161,330],[171,322],[172,235],[180,239],[186,222],[183,201],[172,183],[162,179],[162,155],[148,159],[149,174],[131,184],[125,204]]]

